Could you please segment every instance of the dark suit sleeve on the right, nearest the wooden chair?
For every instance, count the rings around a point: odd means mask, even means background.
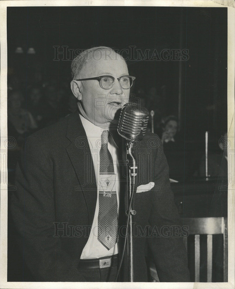
[[[186,249],[180,236],[181,220],[170,189],[169,169],[160,141],[155,155],[151,228],[157,230],[147,238],[160,282],[190,282]],[[154,231],[153,229],[153,232]]]

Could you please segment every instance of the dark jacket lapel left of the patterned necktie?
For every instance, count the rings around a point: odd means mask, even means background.
[[[66,150],[79,182],[76,189],[82,190],[91,226],[97,201],[96,175],[88,139],[78,112],[68,116],[66,137],[71,141]]]

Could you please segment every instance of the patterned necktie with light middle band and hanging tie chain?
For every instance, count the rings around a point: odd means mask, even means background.
[[[118,242],[118,205],[113,159],[108,149],[109,131],[101,134],[98,240],[107,249]]]

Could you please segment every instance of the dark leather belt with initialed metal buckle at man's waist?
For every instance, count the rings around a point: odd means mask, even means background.
[[[118,266],[119,254],[101,257],[99,259],[80,259],[78,269],[95,269]]]

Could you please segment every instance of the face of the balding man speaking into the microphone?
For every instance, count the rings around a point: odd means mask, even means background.
[[[93,59],[82,68],[82,77],[98,77],[102,75],[111,75],[119,78],[122,75],[128,75],[128,69],[124,60],[114,52],[110,57],[100,51],[95,54]],[[96,59],[94,59],[96,58]],[[130,89],[123,89],[118,79],[115,79],[113,87],[103,89],[97,80],[81,81],[80,92],[81,102],[78,103],[79,110],[85,118],[101,127],[109,127],[113,121],[118,121],[118,110],[128,102]]]

